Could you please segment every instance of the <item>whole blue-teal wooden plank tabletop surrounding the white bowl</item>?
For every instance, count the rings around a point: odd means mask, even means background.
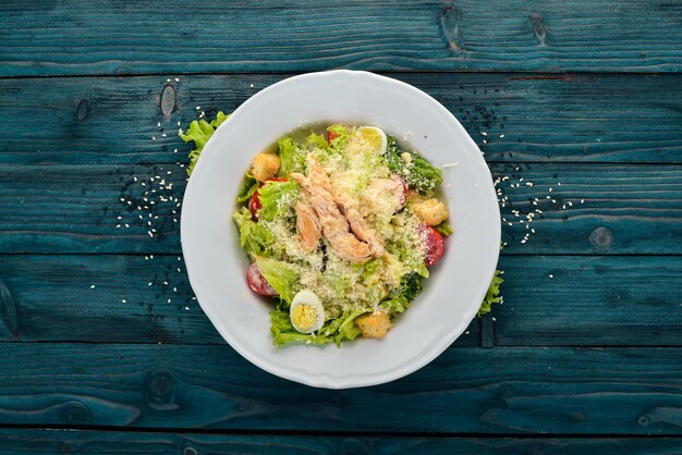
[[[178,223],[180,126],[336,67],[459,118],[508,243],[503,305],[346,391],[232,351]],[[682,453],[679,0],[3,1],[0,120],[0,453]]]

